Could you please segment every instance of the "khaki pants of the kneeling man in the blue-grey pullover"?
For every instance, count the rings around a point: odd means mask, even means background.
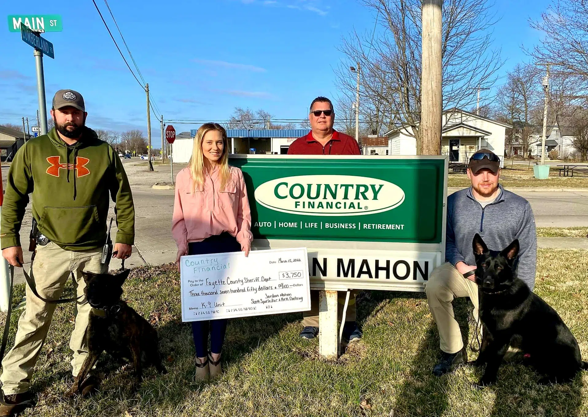
[[[478,317],[478,291],[476,283],[450,264],[435,268],[426,284],[425,292],[429,310],[439,329],[439,346],[443,352],[455,354],[463,348],[462,332],[453,315],[451,302],[456,297],[470,297],[474,305],[474,318]]]

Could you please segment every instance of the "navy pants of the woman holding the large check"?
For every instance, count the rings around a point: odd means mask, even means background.
[[[206,255],[211,253],[239,252],[241,245],[229,233],[207,237],[201,242],[188,244],[188,255]],[[208,355],[208,334],[211,334],[211,352],[220,354],[225,341],[226,318],[219,320],[204,320],[192,322],[192,337],[196,348],[196,357],[205,358]]]

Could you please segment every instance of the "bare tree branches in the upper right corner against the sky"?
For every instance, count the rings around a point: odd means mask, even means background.
[[[552,65],[553,75],[568,82],[570,99],[588,100],[588,5],[584,0],[556,0],[533,29],[543,32],[533,58]]]

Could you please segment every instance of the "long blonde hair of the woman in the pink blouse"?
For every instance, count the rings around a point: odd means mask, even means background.
[[[194,189],[198,190],[204,186],[204,154],[202,153],[202,140],[206,133],[211,130],[216,130],[222,134],[222,156],[219,159],[219,175],[220,175],[220,190],[224,190],[226,183],[230,179],[229,171],[229,139],[226,137],[226,130],[218,123],[204,123],[196,132],[194,138],[194,147],[192,149],[192,157],[188,162],[190,173],[192,174],[192,181],[194,182]]]

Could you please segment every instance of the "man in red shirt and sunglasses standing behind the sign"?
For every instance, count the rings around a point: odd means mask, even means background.
[[[289,155],[360,155],[358,142],[345,133],[333,129],[335,110],[326,97],[316,97],[310,104],[310,127],[312,130],[296,139],[288,148]],[[348,342],[362,338],[362,332],[355,321],[356,292],[352,291],[343,325],[343,339]],[[345,292],[339,292],[339,320],[345,304]],[[310,311],[302,313],[304,329],[300,337],[313,339],[319,334],[319,292],[310,291]]]

